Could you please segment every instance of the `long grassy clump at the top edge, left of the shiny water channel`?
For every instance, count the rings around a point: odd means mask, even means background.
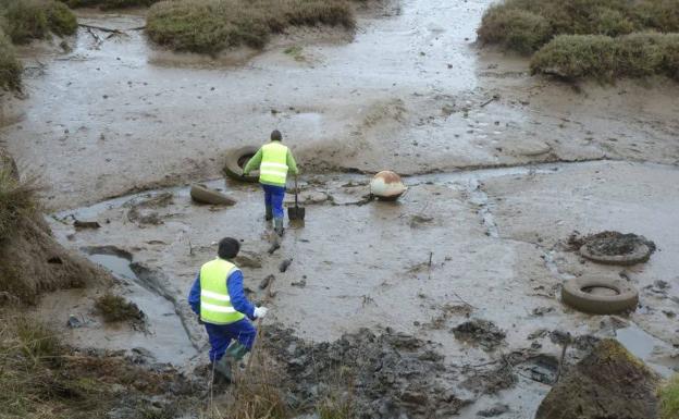
[[[271,34],[289,26],[353,28],[346,0],[175,0],[149,10],[146,32],[177,51],[215,53],[242,45],[262,48]]]

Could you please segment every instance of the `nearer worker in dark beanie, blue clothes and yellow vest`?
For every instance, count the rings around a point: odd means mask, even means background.
[[[267,316],[267,308],[255,307],[243,292],[243,272],[231,261],[238,250],[237,239],[222,238],[219,257],[200,268],[188,294],[188,304],[208,332],[210,361],[227,381],[255,343],[257,330],[248,319]]]

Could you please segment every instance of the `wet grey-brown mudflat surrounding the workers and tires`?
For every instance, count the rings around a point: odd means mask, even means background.
[[[659,372],[677,370],[679,87],[530,77],[526,61],[473,44],[487,4],[405,1],[363,15],[353,40],[296,33],[217,62],[158,51],[138,30],[81,30],[67,53],[24,50],[28,96],[3,99],[3,141],[44,173],[55,236],[113,269],[148,325],[88,323],[96,289],[49,295],[39,311],[77,345],[139,347],[192,371],[207,342],[186,293],[214,242],[232,235],[254,299],[263,299],[262,279],[276,278],[268,324],[307,344],[413,336],[437,354],[462,418],[497,406],[503,418],[532,417],[560,355],[554,330],[617,336]],[[144,22],[84,13],[106,27]],[[289,46],[301,49],[293,57]],[[269,256],[259,189],[218,177],[225,150],[273,127],[305,171],[307,221]],[[358,206],[370,177],[346,172],[383,168],[411,175],[407,195]],[[192,204],[183,185],[210,178],[238,204]],[[152,190],[127,195],[138,189]],[[76,230],[75,219],[101,227]],[[605,230],[643,235],[657,251],[616,268],[568,246],[573,231]],[[563,281],[593,273],[629,279],[640,308],[593,317],[560,304]],[[86,325],[66,329],[69,315]],[[496,329],[464,325],[478,320]],[[568,362],[585,352],[569,350]]]

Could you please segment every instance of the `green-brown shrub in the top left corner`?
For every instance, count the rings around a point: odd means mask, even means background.
[[[5,32],[14,44],[45,39],[51,33],[73,35],[77,20],[67,5],[55,0],[0,0]]]

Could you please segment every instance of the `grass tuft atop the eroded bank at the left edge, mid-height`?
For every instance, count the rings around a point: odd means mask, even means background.
[[[0,163],[0,241],[3,241],[14,233],[20,217],[36,210],[38,187],[35,180],[22,181],[15,168]]]

